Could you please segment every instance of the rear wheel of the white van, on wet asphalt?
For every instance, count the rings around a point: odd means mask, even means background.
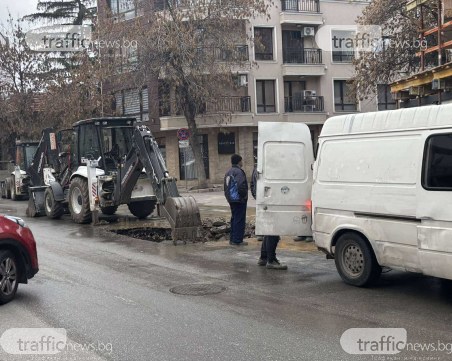
[[[339,237],[334,260],[342,280],[350,285],[369,286],[380,277],[381,267],[377,258],[359,234],[350,232]]]

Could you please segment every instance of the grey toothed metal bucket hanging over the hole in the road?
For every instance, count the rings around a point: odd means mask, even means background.
[[[161,211],[171,225],[174,241],[195,241],[199,237],[201,215],[193,197],[168,197]]]

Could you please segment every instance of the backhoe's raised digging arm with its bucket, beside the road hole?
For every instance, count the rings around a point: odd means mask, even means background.
[[[130,197],[131,188],[144,169],[160,204],[160,211],[171,225],[173,240],[196,239],[201,216],[195,199],[180,196],[176,179],[170,177],[162,153],[148,127],[135,126],[132,139],[132,150],[120,172],[120,196]]]

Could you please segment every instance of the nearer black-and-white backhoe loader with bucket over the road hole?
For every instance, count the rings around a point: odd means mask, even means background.
[[[134,118],[82,120],[57,134],[44,130],[32,167],[32,215],[59,218],[66,208],[74,222],[89,223],[98,209],[111,215],[127,204],[146,218],[159,203],[174,240],[197,238],[196,201],[179,195],[151,131]]]

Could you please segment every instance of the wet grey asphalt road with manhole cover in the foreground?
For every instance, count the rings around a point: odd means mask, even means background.
[[[220,196],[198,195],[202,213],[227,216],[211,201]],[[24,216],[25,207],[0,200],[0,213]],[[67,216],[25,220],[38,242],[40,272],[0,308],[0,334],[11,327],[64,328],[71,344],[92,349],[17,356],[0,347],[1,361],[452,358],[447,351],[352,356],[339,343],[353,327],[406,328],[412,343],[452,343],[452,287],[434,278],[389,272],[377,287],[358,289],[342,283],[333,261],[290,240],[279,252],[289,271],[277,272],[256,266],[255,240],[239,249],[226,242],[173,246],[79,226]],[[186,284],[225,291],[169,291]]]

